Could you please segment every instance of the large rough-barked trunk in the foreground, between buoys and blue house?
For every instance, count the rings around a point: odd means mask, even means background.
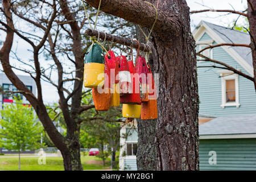
[[[195,41],[183,1],[162,1],[183,15],[182,34],[162,39],[153,33],[155,72],[159,73],[156,144],[158,170],[199,170],[199,97]]]

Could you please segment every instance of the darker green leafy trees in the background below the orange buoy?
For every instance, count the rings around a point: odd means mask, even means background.
[[[82,98],[82,104],[88,105],[92,100],[92,94],[88,92]],[[119,149],[121,121],[121,107],[110,107],[108,111],[87,110],[81,117],[84,122],[81,124],[80,141],[86,148],[100,148],[101,158],[105,165],[105,159],[111,155],[111,167],[117,168],[115,153]],[[108,146],[108,151],[104,146]]]

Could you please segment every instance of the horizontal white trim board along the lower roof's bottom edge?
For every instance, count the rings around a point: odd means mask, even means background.
[[[256,138],[256,134],[199,135],[199,139]]]

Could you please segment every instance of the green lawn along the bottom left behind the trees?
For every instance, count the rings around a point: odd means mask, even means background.
[[[118,160],[118,159],[117,159]],[[103,166],[101,159],[95,156],[82,156],[81,163],[84,170],[99,170],[110,168],[110,158],[106,160]],[[64,170],[63,158],[46,157],[46,165],[38,164],[38,157],[20,158],[20,169],[22,171],[61,171]],[[0,158],[0,170],[15,171],[18,170],[18,158]]]

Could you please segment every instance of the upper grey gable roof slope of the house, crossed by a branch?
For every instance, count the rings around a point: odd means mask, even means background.
[[[202,21],[209,28],[211,28],[225,43],[234,43],[234,44],[250,44],[250,35],[246,32],[233,30],[231,28],[218,26],[209,22]],[[251,67],[253,67],[253,59],[251,56],[251,49],[249,47],[230,47],[234,49]]]

